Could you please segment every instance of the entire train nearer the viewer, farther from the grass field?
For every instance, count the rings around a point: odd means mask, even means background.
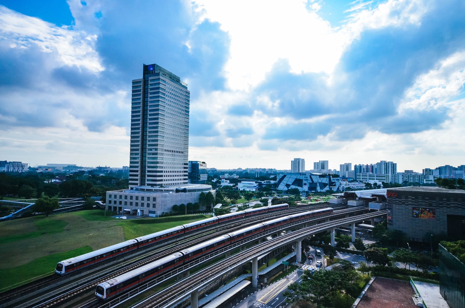
[[[285,226],[289,223],[328,215],[333,212],[332,208],[321,208],[265,221],[228,234],[220,235],[214,239],[205,241],[193,247],[185,248],[179,252],[143,265],[140,268],[133,269],[132,271],[104,281],[98,284],[95,288],[95,296],[100,299],[107,300],[129,290],[130,288],[134,288],[142,283],[150,281],[159,275],[163,275],[174,268],[200,258],[203,258],[204,260],[209,259],[213,256],[210,255],[213,252],[218,252],[221,248],[226,248],[225,250],[228,250],[229,248],[227,247],[229,245],[250,239],[251,237],[253,238],[254,235],[262,234],[263,232],[270,230],[280,230],[279,227]]]

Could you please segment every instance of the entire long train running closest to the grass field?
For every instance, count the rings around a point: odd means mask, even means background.
[[[222,225],[234,219],[248,217],[255,214],[279,211],[286,208],[289,208],[287,203],[260,208],[249,208],[244,211],[237,211],[230,214],[214,216],[182,226],[177,226],[152,234],[140,236],[132,240],[124,241],[87,254],[78,255],[76,257],[60,261],[55,268],[55,273],[61,276],[67,275],[74,273],[82,268],[86,268],[101,262],[106,262],[112,258],[118,257],[122,254],[127,254],[137,249],[147,248],[155,244],[163,244],[166,241],[172,240],[173,238],[200,230],[202,228],[207,228],[213,225]]]

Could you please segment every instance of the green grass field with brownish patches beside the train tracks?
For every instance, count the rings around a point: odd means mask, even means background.
[[[0,289],[52,273],[67,258],[208,217],[121,220],[114,214],[89,210],[1,222]]]

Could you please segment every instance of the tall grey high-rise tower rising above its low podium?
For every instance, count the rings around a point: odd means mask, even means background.
[[[187,84],[157,64],[133,80],[129,187],[187,183]]]

